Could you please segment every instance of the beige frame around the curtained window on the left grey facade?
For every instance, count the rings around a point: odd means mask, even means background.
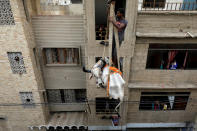
[[[67,48],[76,48],[78,49],[78,54],[79,54],[79,63],[78,64],[74,64],[74,63],[71,63],[71,64],[60,64],[60,63],[55,63],[55,64],[47,64],[47,59],[46,59],[46,54],[45,54],[45,49],[67,49]],[[43,64],[45,65],[45,67],[54,67],[54,66],[57,66],[57,67],[64,67],[64,66],[81,66],[81,47],[80,46],[66,46],[66,47],[42,47],[41,48],[41,52],[42,52],[42,61],[43,61]],[[65,56],[64,56],[65,57]]]

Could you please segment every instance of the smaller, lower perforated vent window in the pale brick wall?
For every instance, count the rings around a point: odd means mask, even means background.
[[[32,92],[20,92],[20,97],[24,107],[34,107]]]

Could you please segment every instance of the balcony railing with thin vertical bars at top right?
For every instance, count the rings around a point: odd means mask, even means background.
[[[138,11],[196,11],[197,2],[139,2]]]

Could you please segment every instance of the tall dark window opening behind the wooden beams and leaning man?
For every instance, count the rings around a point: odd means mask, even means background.
[[[119,8],[126,7],[126,0],[116,0],[115,12]],[[108,39],[108,29],[107,29],[107,19],[108,19],[108,5],[107,0],[95,0],[95,32],[96,40],[107,40]]]

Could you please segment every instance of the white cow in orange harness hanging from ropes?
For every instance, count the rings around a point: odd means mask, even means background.
[[[107,88],[109,97],[123,101],[125,81],[121,76],[122,73],[115,67],[109,67],[108,64],[109,60],[105,57],[100,59],[91,70],[84,68],[84,72],[91,73],[90,79],[96,78],[98,87]]]

